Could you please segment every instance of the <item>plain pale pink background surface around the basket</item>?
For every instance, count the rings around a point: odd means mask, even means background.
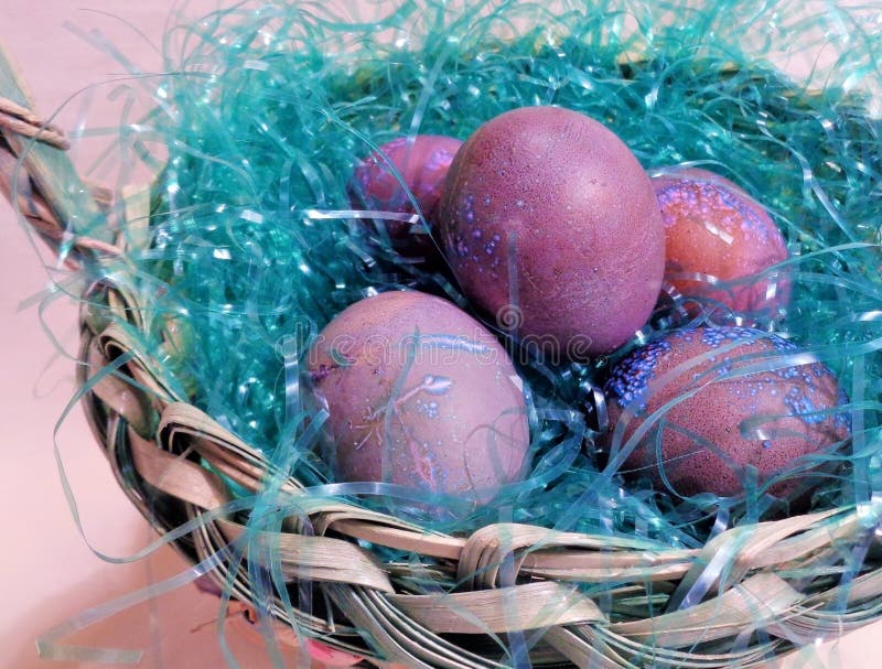
[[[157,52],[170,0],[152,0],[140,9],[125,0],[0,0],[0,42],[19,61],[36,98],[37,109],[51,114],[89,84],[121,73],[111,58],[63,26],[71,21],[98,26],[132,61],[149,69],[159,66]],[[215,6],[208,0],[190,3],[198,14]],[[131,22],[147,35],[140,37],[108,12]],[[93,126],[115,126],[117,107],[98,90],[87,118]],[[65,109],[60,125],[73,128],[80,119],[79,104]],[[95,147],[74,155],[85,170]],[[149,546],[154,536],[117,488],[82,412],[74,408],[57,438],[55,424],[74,392],[76,309],[69,301],[53,303],[45,314],[61,337],[60,353],[41,330],[33,305],[22,301],[50,285],[46,270],[11,208],[0,202],[0,668],[51,669],[97,667],[84,662],[53,662],[37,657],[35,639],[54,626],[93,606],[182,573],[187,565],[168,548],[150,558],[112,564],[93,552],[116,558]],[[42,249],[41,249],[42,250]],[[49,259],[45,253],[43,259]],[[65,500],[54,454],[54,440],[76,495],[80,536]],[[89,548],[92,546],[92,549]],[[137,605],[110,619],[67,637],[65,641],[90,647],[122,647],[144,652],[141,667],[200,669],[220,667],[215,626],[216,602],[192,585]],[[241,623],[229,623],[239,663],[269,667],[257,639],[236,634]],[[848,635],[841,641],[807,649],[790,657],[787,667],[879,666],[882,623]],[[292,666],[295,663],[292,659]]]

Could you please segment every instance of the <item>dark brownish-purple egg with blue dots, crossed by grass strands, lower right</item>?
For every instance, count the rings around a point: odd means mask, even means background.
[[[849,420],[835,409],[847,400],[820,363],[719,379],[774,359],[757,357],[762,354],[798,350],[792,342],[762,331],[700,327],[675,331],[632,352],[613,368],[605,386],[612,451],[623,446],[646,417],[690,392],[695,393],[667,410],[660,435],[664,474],[679,495],[736,495],[743,490],[745,466],[756,467],[762,484],[798,457],[845,440]],[[612,431],[625,408],[635,418],[619,440]],[[755,422],[763,417],[768,420]],[[648,475],[664,490],[656,453],[660,424],[639,439],[624,467]],[[770,492],[786,496],[795,485],[793,479],[782,481]]]

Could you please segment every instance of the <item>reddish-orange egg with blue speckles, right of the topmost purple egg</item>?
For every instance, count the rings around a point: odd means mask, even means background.
[[[781,231],[756,201],[704,170],[663,172],[653,176],[653,186],[665,222],[666,278],[680,293],[740,312],[774,315],[786,305],[786,274],[744,281],[787,259]],[[696,273],[708,279],[689,278]]]

